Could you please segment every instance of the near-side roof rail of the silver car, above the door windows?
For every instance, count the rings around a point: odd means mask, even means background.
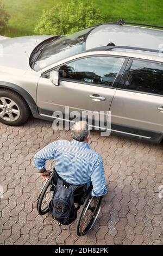
[[[111,44],[111,46],[109,46]],[[120,46],[120,45],[114,45],[112,42],[109,43],[107,46],[101,46],[96,47],[87,50],[86,52],[92,52],[92,51],[110,51],[113,49],[129,49],[129,50],[137,50],[137,51],[146,51],[146,52],[160,52],[160,50],[155,49],[148,49],[148,48],[141,48],[141,47],[133,47],[133,46]]]

